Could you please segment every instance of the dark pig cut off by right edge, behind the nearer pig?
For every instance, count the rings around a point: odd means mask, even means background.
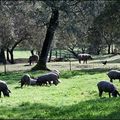
[[[120,81],[120,71],[118,70],[110,70],[108,73],[107,73],[108,77],[110,78],[110,82],[113,82],[113,79],[119,79]]]

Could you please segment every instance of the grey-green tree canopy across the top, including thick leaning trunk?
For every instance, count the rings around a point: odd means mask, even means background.
[[[16,47],[36,50],[33,70],[48,69],[52,49],[69,52],[113,53],[120,44],[120,2],[31,0],[0,2],[0,49],[15,63]]]

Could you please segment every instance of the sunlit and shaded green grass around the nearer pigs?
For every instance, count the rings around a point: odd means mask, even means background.
[[[32,76],[37,72],[9,72],[0,74],[12,91],[9,98],[0,99],[0,119],[117,119],[120,118],[120,98],[108,98],[104,93],[100,99],[96,84],[108,80],[107,70],[60,71],[58,86],[28,86],[19,88],[18,81],[25,73]],[[114,84],[120,91],[120,83]]]

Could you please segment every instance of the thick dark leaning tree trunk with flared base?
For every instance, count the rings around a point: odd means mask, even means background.
[[[39,55],[39,60],[36,66],[32,70],[49,70],[46,66],[47,57],[50,50],[50,45],[52,43],[54,33],[58,27],[58,17],[59,11],[57,9],[52,9],[52,15],[50,18],[49,26],[47,28],[46,37],[43,43],[41,54]]]

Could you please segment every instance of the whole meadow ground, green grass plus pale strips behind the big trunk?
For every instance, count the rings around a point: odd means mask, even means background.
[[[14,51],[15,59],[28,59],[30,51]],[[50,62],[50,69],[60,70],[58,86],[25,86],[20,88],[18,81],[23,74],[38,77],[45,71],[29,71],[34,65],[17,63],[0,66],[0,79],[7,82],[10,97],[0,98],[0,119],[119,119],[120,98],[109,98],[103,93],[99,98],[96,84],[109,81],[106,73],[110,69],[120,69],[120,55],[93,56],[88,64],[78,61]],[[107,65],[101,61],[107,60]],[[120,92],[120,82],[114,81]]]

